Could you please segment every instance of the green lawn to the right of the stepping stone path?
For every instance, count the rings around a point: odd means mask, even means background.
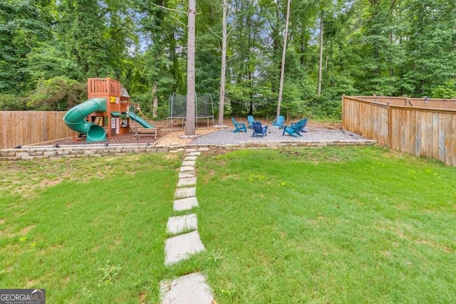
[[[240,150],[203,154],[197,177],[207,252],[187,271],[219,303],[456,298],[453,167],[381,147]]]

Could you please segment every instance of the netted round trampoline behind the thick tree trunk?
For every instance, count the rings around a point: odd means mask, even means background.
[[[182,127],[185,125],[187,119],[187,95],[178,95],[172,93],[170,96],[170,116],[167,117],[168,125],[173,127],[174,120],[182,120]],[[212,95],[209,93],[204,95],[196,95],[195,98],[195,124],[198,126],[198,120],[207,120],[207,127],[209,127],[209,120],[214,122],[214,102]]]

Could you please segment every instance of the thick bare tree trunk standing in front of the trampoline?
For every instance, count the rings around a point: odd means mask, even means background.
[[[195,19],[197,1],[188,1],[188,38],[187,38],[187,123],[185,135],[195,135]]]

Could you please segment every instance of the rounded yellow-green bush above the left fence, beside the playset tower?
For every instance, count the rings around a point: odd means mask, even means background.
[[[87,85],[60,76],[40,80],[28,98],[27,107],[42,111],[63,111],[81,103],[87,96]]]

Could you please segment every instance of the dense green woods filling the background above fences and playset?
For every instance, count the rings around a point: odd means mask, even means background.
[[[225,113],[274,116],[286,0],[227,2]],[[217,101],[222,0],[197,12],[196,90]],[[337,118],[343,93],[456,97],[455,16],[454,0],[291,0],[282,114]],[[0,110],[66,110],[110,77],[165,117],[187,91],[186,25],[180,0],[3,0]]]

